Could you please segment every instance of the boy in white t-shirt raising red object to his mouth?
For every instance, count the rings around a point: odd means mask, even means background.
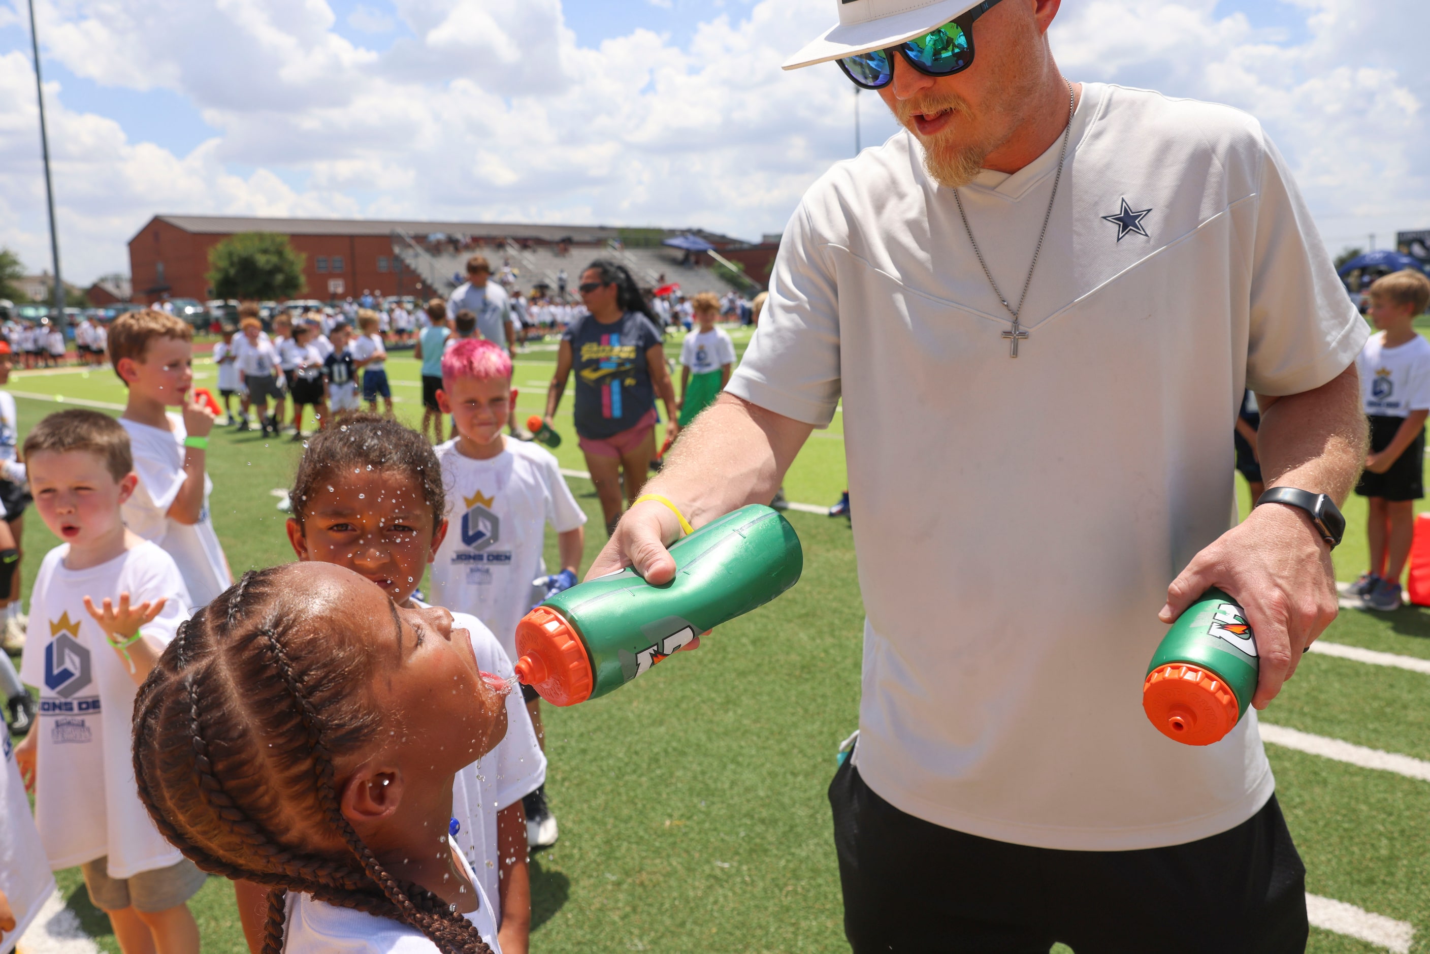
[[[129,388],[120,423],[139,473],[124,523],[174,558],[194,608],[207,605],[233,575],[209,511],[204,463],[216,415],[190,393],[193,329],[164,312],[129,312],[110,329],[110,358]],[[167,413],[173,406],[183,416]]]

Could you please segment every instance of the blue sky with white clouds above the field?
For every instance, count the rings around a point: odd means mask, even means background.
[[[66,277],[159,212],[702,226],[756,239],[854,152],[779,62],[835,0],[36,0]],[[0,0],[0,246],[49,260],[24,0]],[[1080,80],[1240,106],[1333,249],[1430,227],[1426,0],[1064,0]],[[859,102],[864,144],[894,126]]]

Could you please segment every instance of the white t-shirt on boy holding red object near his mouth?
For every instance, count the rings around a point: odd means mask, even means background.
[[[199,522],[180,523],[169,516],[169,508],[173,506],[184,482],[183,442],[189,433],[184,431],[183,418],[169,415],[172,432],[126,418],[120,418],[119,422],[129,432],[134,473],[139,475],[139,486],[120,508],[124,525],[164,548],[183,572],[184,585],[194,601],[193,608],[207,606],[214,596],[233,585],[233,575],[229,572],[223,546],[219,545],[219,535],[213,529],[213,515],[209,509],[213,481],[207,473],[203,475],[203,508],[199,511]]]

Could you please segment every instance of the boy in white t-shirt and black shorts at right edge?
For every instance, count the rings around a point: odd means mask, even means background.
[[[1426,495],[1430,342],[1411,322],[1430,305],[1430,279],[1396,272],[1371,285],[1369,299],[1380,333],[1356,359],[1370,418],[1370,456],[1356,493],[1370,498],[1370,571],[1356,582],[1356,592],[1370,609],[1391,611],[1400,609],[1400,575],[1410,556],[1416,501]]]

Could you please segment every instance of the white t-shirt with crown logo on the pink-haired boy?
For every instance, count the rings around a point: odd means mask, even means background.
[[[561,465],[545,448],[506,438],[490,461],[448,441],[436,449],[448,488],[446,539],[432,561],[432,602],[469,612],[516,655],[516,624],[532,608],[546,523],[558,533],[586,522]]]

